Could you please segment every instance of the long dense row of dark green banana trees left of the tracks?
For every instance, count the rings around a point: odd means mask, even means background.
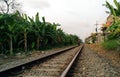
[[[46,22],[39,13],[32,18],[18,11],[0,14],[0,54],[13,55],[77,44],[78,36],[66,34],[58,26],[58,23]]]

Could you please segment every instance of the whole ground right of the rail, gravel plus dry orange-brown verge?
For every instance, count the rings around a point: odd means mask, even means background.
[[[85,45],[72,77],[120,77],[120,57],[99,45]]]

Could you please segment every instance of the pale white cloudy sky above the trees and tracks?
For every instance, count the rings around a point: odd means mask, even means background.
[[[64,32],[84,39],[95,32],[96,21],[105,23],[108,14],[102,4],[106,0],[19,0],[29,16],[45,16],[46,21],[61,24]],[[107,0],[113,2],[113,0]],[[99,27],[101,25],[98,25]]]

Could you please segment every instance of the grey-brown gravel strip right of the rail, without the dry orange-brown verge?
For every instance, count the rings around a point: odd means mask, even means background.
[[[84,47],[71,77],[120,77],[120,66]]]

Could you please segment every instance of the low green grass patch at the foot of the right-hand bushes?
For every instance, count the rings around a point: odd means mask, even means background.
[[[102,46],[107,50],[120,51],[120,43],[118,39],[105,40]]]

